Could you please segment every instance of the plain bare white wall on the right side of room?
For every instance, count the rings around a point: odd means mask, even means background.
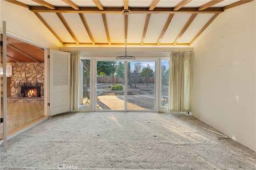
[[[192,44],[192,115],[256,151],[256,2],[220,14]]]

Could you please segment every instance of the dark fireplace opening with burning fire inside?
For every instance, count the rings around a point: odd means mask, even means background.
[[[41,97],[41,83],[22,83],[21,97]]]

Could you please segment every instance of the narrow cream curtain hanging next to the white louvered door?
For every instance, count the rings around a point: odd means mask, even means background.
[[[79,83],[79,51],[68,51],[71,58],[71,76],[70,76],[70,110],[78,111],[78,83]]]

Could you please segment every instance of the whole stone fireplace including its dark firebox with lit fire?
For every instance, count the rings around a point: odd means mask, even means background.
[[[44,63],[11,63],[10,97],[44,96]]]

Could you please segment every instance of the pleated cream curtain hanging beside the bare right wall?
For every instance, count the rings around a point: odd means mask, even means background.
[[[191,64],[191,52],[170,52],[170,89],[168,111],[190,111]]]

